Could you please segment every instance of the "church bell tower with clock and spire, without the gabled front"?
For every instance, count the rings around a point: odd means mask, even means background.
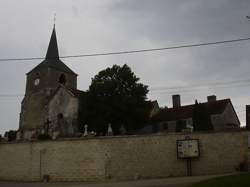
[[[59,58],[55,26],[45,59],[26,76],[26,91],[19,122],[19,131],[24,136],[25,132],[43,128],[48,112],[47,103],[60,85],[70,89],[77,88],[77,74]]]

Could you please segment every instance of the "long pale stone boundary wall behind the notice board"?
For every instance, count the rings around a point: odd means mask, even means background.
[[[234,172],[250,158],[250,132],[193,133],[200,158],[193,175]],[[178,160],[176,140],[184,134],[99,137],[44,142],[1,143],[0,179],[39,181],[101,181],[186,175]]]

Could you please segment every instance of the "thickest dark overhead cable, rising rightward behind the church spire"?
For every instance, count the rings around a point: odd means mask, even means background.
[[[227,43],[242,42],[242,41],[248,41],[248,40],[250,40],[250,38],[238,38],[238,39],[232,39],[232,40],[222,40],[222,41],[216,41],[216,42],[177,45],[177,46],[162,47],[162,48],[138,49],[138,50],[129,50],[129,51],[80,54],[80,55],[67,55],[67,56],[61,56],[60,58],[61,59],[62,58],[82,58],[82,57],[122,55],[122,54],[132,54],[132,53],[145,53],[145,52],[153,52],[153,51],[163,51],[163,50],[172,50],[172,49],[181,49],[181,48],[201,47],[201,46],[208,46],[208,45],[227,44]],[[43,59],[44,59],[43,57],[2,58],[2,59],[0,59],[0,61],[30,61],[30,60],[43,60]]]

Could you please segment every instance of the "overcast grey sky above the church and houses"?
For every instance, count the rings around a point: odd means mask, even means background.
[[[45,57],[55,13],[60,56],[250,37],[249,0],[0,0],[0,59]],[[26,73],[40,62],[0,62],[1,134],[18,129]],[[160,106],[171,107],[173,94],[182,105],[216,95],[230,98],[245,124],[250,41],[63,62],[78,73],[80,90],[100,70],[126,63]]]

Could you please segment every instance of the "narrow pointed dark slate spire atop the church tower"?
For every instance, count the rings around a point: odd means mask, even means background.
[[[54,28],[53,28],[53,31],[52,31],[52,34],[51,34],[49,47],[48,47],[45,59],[46,60],[59,59],[59,52],[58,52],[58,47],[57,47],[55,25],[54,25]]]

